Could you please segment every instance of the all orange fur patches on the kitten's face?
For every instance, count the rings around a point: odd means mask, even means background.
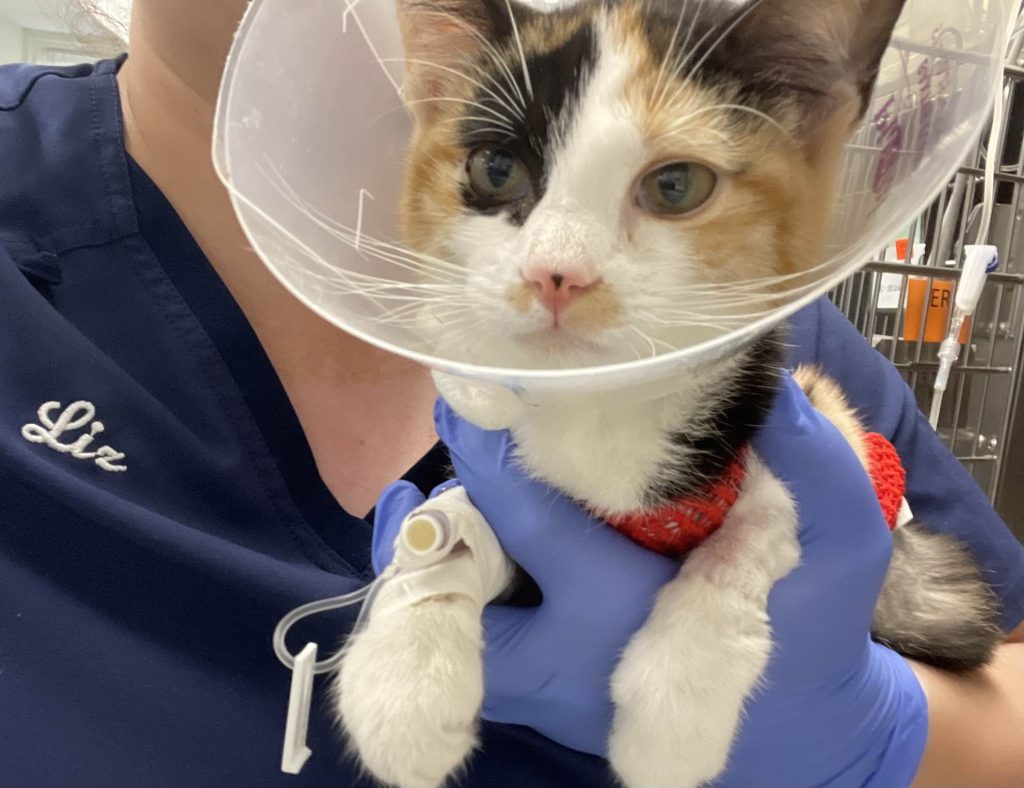
[[[698,266],[700,278],[709,282],[742,282],[818,263],[856,107],[837,113],[813,139],[801,135],[798,141],[795,112],[793,117],[765,120],[735,108],[738,95],[732,88],[687,81],[686,65],[674,74],[677,63],[663,63],[650,48],[639,0],[611,7],[587,4],[574,13],[532,17],[520,30],[527,57],[561,45],[596,14],[607,20],[613,45],[633,63],[623,100],[648,140],[648,161],[699,161],[722,174],[707,210],[691,217],[647,216],[643,221],[665,222],[678,231],[680,246],[697,251],[696,259],[688,262]],[[482,46],[459,57],[454,68],[477,76],[480,70],[499,73],[495,57],[505,59],[506,68],[519,63],[518,51],[485,51]],[[421,115],[410,147],[401,216],[411,247],[447,257],[446,242],[464,211],[461,189],[469,152],[459,139],[459,123],[473,113],[465,102],[473,100],[474,84],[456,75],[440,81],[442,100],[432,104],[429,116]],[[528,289],[511,288],[506,294],[520,313],[529,308],[531,298]],[[570,312],[577,311],[587,324],[610,325],[622,317],[622,302],[613,292],[602,291],[574,303]]]

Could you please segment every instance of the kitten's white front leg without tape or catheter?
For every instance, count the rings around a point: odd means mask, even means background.
[[[722,527],[686,559],[611,681],[609,758],[631,788],[689,788],[726,767],[771,653],[768,594],[800,561],[785,487],[753,453]]]

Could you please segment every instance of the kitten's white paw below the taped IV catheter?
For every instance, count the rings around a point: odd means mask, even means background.
[[[335,700],[374,777],[434,788],[466,760],[477,744],[482,649],[480,608],[457,595],[371,616],[349,641]]]

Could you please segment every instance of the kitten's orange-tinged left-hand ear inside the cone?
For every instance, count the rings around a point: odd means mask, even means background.
[[[479,79],[465,64],[500,32],[496,13],[501,6],[507,15],[505,0],[397,0],[397,5],[407,58],[403,92],[415,115],[429,117],[437,110],[431,99],[458,95],[468,78]]]

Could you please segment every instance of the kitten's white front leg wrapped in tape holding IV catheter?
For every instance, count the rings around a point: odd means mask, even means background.
[[[335,685],[352,750],[378,780],[434,788],[476,746],[483,703],[483,606],[511,580],[512,566],[462,488],[418,513],[441,515],[451,552],[422,567],[422,556],[382,583],[366,626],[353,633]],[[454,548],[451,545],[454,544]],[[409,557],[406,556],[408,560]]]

